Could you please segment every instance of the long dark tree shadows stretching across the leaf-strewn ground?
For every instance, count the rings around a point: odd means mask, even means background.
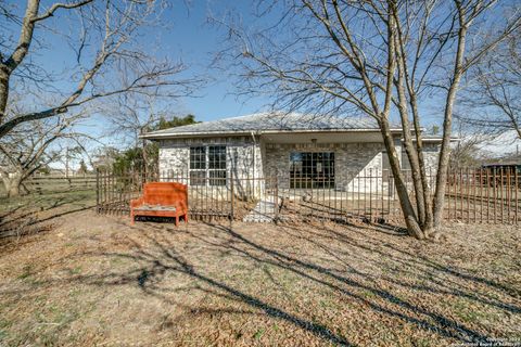
[[[465,323],[456,321],[454,318],[445,317],[428,307],[414,304],[410,300],[394,294],[391,290],[383,288],[381,285],[372,282],[372,275],[370,273],[365,273],[351,267],[351,270],[364,280],[353,279],[343,274],[342,271],[334,269],[334,267],[317,264],[316,259],[307,259],[305,254],[295,256],[292,252],[276,249],[267,245],[269,242],[259,243],[254,241],[253,237],[249,237],[247,235],[226,226],[213,223],[207,223],[207,226],[214,230],[218,230],[218,240],[215,240],[215,237],[207,237],[201,232],[191,232],[190,230],[186,232],[190,234],[194,242],[198,242],[201,245],[206,245],[209,249],[219,250],[225,256],[232,254],[234,256],[250,259],[256,265],[264,264],[291,272],[298,278],[313,281],[317,285],[341,293],[343,296],[348,297],[351,300],[358,304],[363,304],[374,312],[393,319],[403,320],[415,325],[417,329],[430,331],[440,336],[462,343],[486,342],[488,338],[486,334],[475,331],[470,326],[467,326]],[[208,285],[213,288],[213,291],[209,291],[213,295],[221,295],[229,299],[247,304],[252,308],[260,309],[265,314],[271,318],[288,321],[329,343],[341,345],[350,344],[346,337],[333,333],[333,330],[326,325],[316,324],[305,318],[295,317],[294,314],[267,304],[259,297],[241,292],[238,287],[233,287],[230,284],[204,274],[204,271],[200,271],[190,264],[190,261],[183,256],[183,250],[179,249],[179,245],[176,245],[167,234],[161,235],[161,231],[164,231],[163,227],[152,224],[144,226],[144,229],[145,230],[141,236],[147,237],[147,240],[153,245],[152,250],[144,249],[137,244],[135,248],[136,252],[131,255],[104,254],[104,256],[110,257],[136,259],[144,264],[139,273],[132,273],[129,277],[126,274],[122,274],[120,277],[116,275],[116,278],[111,281],[111,284],[118,284],[120,281],[124,283],[131,283],[134,281],[148,294],[166,299],[166,296],[163,295],[165,288],[162,287],[161,278],[168,272],[182,273]],[[151,234],[148,232],[150,229],[155,229],[156,233]],[[329,228],[321,230],[310,229],[305,232],[302,232],[298,228],[288,227],[279,228],[278,230],[287,233],[288,236],[296,242],[300,240],[313,244],[315,247],[320,248],[323,254],[332,256],[338,260],[350,259],[351,257],[354,257],[354,254],[356,253],[339,253],[338,249],[331,247],[329,243],[331,241],[340,242],[341,245],[348,246],[351,249],[358,249],[365,253],[377,253],[379,258],[377,258],[377,260],[371,260],[374,262],[374,266],[381,266],[378,259],[391,259],[393,264],[403,266],[402,271],[404,271],[406,275],[423,275],[425,279],[429,279],[429,285],[414,285],[394,279],[392,275],[380,275],[379,278],[379,280],[384,283],[417,291],[419,295],[422,293],[437,293],[459,296],[511,313],[521,313],[521,308],[516,305],[501,303],[497,298],[475,293],[472,283],[480,283],[496,291],[505,291],[508,288],[507,293],[516,298],[519,293],[513,288],[484,278],[466,274],[458,269],[447,269],[447,267],[441,264],[425,257],[420,257],[408,250],[399,249],[397,246],[382,242],[374,237],[374,235],[368,235],[360,230],[351,230],[350,232],[358,233],[360,240],[364,240],[364,242],[351,237],[347,233],[342,233]],[[320,260],[321,262],[326,261],[325,259]],[[348,264],[344,265],[348,266]],[[410,270],[410,273],[407,273],[408,268],[405,266],[418,269],[420,274],[415,273],[412,270]],[[444,282],[433,280],[429,277],[430,271],[443,272],[444,274],[449,275],[449,279],[444,279]],[[452,278],[457,279],[458,281],[452,280]],[[104,281],[101,283],[106,284]],[[433,284],[439,287],[434,288]],[[361,293],[370,293],[371,295],[368,297]]]

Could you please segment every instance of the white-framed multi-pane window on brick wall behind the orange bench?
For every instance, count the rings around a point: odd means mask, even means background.
[[[226,185],[226,146],[190,147],[190,185]]]

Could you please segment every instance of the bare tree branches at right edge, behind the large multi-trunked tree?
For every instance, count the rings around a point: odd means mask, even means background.
[[[521,31],[488,52],[471,69],[460,115],[467,125],[493,132],[516,131],[521,140]]]

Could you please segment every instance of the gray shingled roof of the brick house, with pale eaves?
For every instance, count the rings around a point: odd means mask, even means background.
[[[399,130],[399,126],[392,125]],[[274,133],[300,131],[364,131],[378,130],[377,121],[370,117],[333,117],[298,113],[258,113],[242,117],[204,121],[149,132],[147,139],[176,138],[208,134]]]

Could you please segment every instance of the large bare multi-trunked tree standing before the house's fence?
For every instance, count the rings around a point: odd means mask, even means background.
[[[501,11],[495,8],[496,1],[264,3],[267,7],[260,9],[260,15],[275,17],[275,25],[268,28],[250,33],[233,18],[219,21],[230,34],[229,55],[244,72],[241,93],[271,93],[278,107],[304,108],[317,115],[356,111],[374,118],[407,229],[418,239],[435,236],[442,221],[453,108],[460,80],[519,27],[519,11],[510,12],[501,27],[494,28],[494,35],[478,42],[474,37],[481,26],[486,24],[490,29],[487,18]],[[424,117],[421,103],[432,98],[443,105],[443,141],[433,194],[420,126]],[[391,131],[392,111],[402,123],[416,206],[401,171]]]

